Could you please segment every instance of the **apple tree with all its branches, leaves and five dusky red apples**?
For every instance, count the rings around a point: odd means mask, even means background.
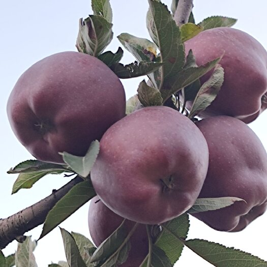
[[[267,107],[267,52],[235,19],[196,23],[192,0],[148,0],[151,40],[112,41],[108,0],[80,19],[77,51],[56,53],[18,79],[7,114],[36,158],[12,193],[47,174],[71,181],[0,219],[0,267],[37,266],[25,233],[40,239],[90,201],[93,242],[60,228],[67,261],[50,267],[173,266],[187,247],[214,266],[267,266],[238,249],[188,239],[189,214],[219,231],[241,231],[267,209],[267,154],[248,123]],[[124,51],[136,58],[121,63]],[[126,101],[120,79],[144,76]],[[17,240],[15,254],[2,250]],[[177,262],[179,264],[179,261]]]

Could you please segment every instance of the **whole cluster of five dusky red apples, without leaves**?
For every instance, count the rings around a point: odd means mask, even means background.
[[[194,123],[167,106],[126,115],[120,79],[96,57],[62,52],[26,70],[8,101],[18,140],[38,160],[63,164],[58,152],[84,156],[100,140],[91,171],[97,197],[88,224],[99,246],[126,218],[131,251],[122,266],[138,266],[148,251],[145,224],[187,212],[197,198],[239,197],[231,206],[193,214],[220,231],[240,231],[267,207],[267,154],[247,123],[267,107],[267,52],[228,27],[185,43],[198,65],[223,53],[223,86]],[[203,49],[204,48],[204,49]],[[201,83],[209,73],[201,77]],[[190,109],[192,103],[187,103]]]

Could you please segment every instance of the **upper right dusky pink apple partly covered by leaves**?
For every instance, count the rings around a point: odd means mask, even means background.
[[[224,68],[223,85],[199,117],[228,115],[250,123],[267,108],[267,52],[256,39],[239,29],[218,27],[186,41],[186,54],[190,49],[198,66],[223,55],[219,62]],[[209,76],[201,77],[201,84]]]

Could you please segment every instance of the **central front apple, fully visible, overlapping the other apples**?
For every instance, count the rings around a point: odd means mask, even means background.
[[[114,213],[159,224],[194,204],[208,162],[206,140],[189,118],[165,106],[144,107],[103,135],[91,179]]]

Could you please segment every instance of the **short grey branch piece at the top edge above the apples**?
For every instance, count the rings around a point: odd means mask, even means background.
[[[174,20],[178,26],[188,22],[193,8],[193,0],[180,0],[174,14]]]

